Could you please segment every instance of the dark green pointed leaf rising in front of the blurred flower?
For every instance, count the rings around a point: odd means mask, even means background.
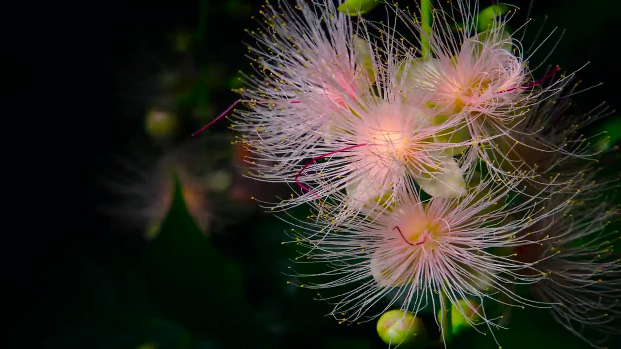
[[[176,176],[171,211],[148,246],[147,269],[163,312],[193,331],[222,333],[248,311],[240,266],[201,233]]]

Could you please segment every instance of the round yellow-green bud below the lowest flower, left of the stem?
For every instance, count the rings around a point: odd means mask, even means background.
[[[389,310],[378,320],[379,338],[390,345],[424,343],[427,341],[425,324],[411,312]]]

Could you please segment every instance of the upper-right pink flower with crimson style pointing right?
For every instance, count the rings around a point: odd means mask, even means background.
[[[520,128],[531,122],[532,109],[560,93],[575,72],[565,75],[558,71],[558,66],[543,72],[538,70],[540,65],[530,70],[532,65],[528,60],[533,52],[525,53],[515,33],[506,29],[517,10],[497,16],[486,31],[478,33],[474,15],[478,5],[473,7],[466,1],[453,1],[451,6],[443,8],[438,4],[432,11],[431,34],[424,36],[430,57],[414,61],[407,71],[404,77],[407,94],[427,96],[428,105],[438,116],[468,130],[454,134],[451,140],[459,143],[456,147],[466,156],[466,163],[481,159],[492,171],[504,177],[514,176],[515,171],[505,170],[509,159],[502,156],[500,138],[502,143],[511,145],[522,142],[522,137],[516,134],[523,132]],[[416,15],[400,9],[395,11],[416,37],[424,35]],[[460,30],[453,30],[455,27]],[[543,41],[548,39],[550,36]],[[410,56],[418,52],[407,41],[399,50]],[[535,74],[540,76],[535,78]],[[468,143],[471,147],[463,147]],[[559,148],[536,142],[530,142],[528,147],[542,152]],[[514,161],[512,170],[530,170]]]

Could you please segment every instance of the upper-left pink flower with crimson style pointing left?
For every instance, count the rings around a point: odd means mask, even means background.
[[[266,3],[260,14],[260,28],[248,30],[255,74],[240,89],[252,110],[237,111],[232,129],[243,133],[250,163],[270,162],[255,166],[258,179],[293,182],[333,119],[369,92],[371,52],[332,2]]]

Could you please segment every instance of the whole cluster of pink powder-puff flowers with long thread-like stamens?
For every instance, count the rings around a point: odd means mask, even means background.
[[[492,330],[496,303],[550,308],[578,335],[612,330],[600,324],[619,314],[620,270],[605,225],[619,210],[602,193],[615,181],[593,180],[599,150],[580,133],[609,109],[574,113],[577,71],[533,66],[525,26],[507,27],[517,9],[492,8],[481,28],[478,2],[428,16],[389,5],[386,23],[332,1],[266,2],[247,30],[246,108],[227,118],[248,174],[298,193],[265,204],[310,207],[288,216],[296,260],[327,269],[296,276],[345,289],[325,297],[340,322],[439,306]]]

